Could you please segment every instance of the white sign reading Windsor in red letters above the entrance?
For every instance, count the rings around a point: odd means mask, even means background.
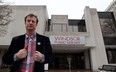
[[[51,44],[85,44],[84,36],[50,36]]]

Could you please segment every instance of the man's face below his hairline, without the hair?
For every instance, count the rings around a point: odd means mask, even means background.
[[[28,16],[25,21],[25,26],[27,31],[35,31],[37,26],[36,18]]]

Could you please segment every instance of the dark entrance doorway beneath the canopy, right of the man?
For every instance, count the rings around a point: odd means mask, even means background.
[[[50,69],[69,69],[68,57],[70,57],[70,69],[85,69],[84,52],[81,53],[55,53],[55,59]]]

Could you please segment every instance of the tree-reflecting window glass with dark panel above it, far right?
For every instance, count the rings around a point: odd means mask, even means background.
[[[115,19],[112,12],[98,12],[103,36],[116,36]]]

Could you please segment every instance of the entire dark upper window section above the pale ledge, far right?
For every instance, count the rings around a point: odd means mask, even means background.
[[[116,45],[116,24],[112,12],[98,12],[105,45]]]

